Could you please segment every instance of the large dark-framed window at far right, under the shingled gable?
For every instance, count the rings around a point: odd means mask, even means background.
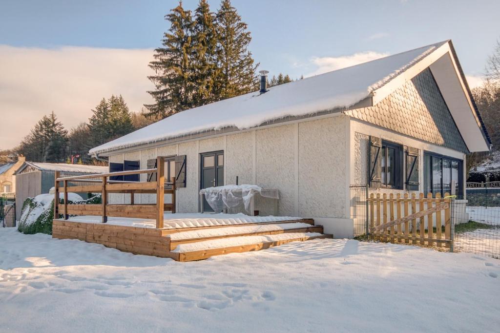
[[[463,195],[462,160],[425,152],[423,155],[423,190],[432,194],[454,193]]]

